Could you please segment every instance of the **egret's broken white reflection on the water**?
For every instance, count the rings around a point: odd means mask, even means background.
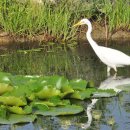
[[[122,76],[116,76],[116,75],[110,76],[106,80],[101,82],[99,89],[103,90],[114,89],[114,91],[119,93],[123,91],[123,87],[121,88],[121,86],[124,87],[124,90],[126,86],[130,86],[130,78],[124,78]],[[87,123],[81,124],[82,129],[87,129],[91,126],[93,120],[92,111],[98,100],[100,99],[92,99],[91,103],[87,106],[86,114],[88,117],[88,121]]]

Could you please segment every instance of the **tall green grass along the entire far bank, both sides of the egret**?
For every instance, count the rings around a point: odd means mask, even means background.
[[[48,40],[68,41],[76,38],[73,23],[82,17],[91,18],[105,14],[109,31],[130,29],[130,8],[127,0],[61,0],[54,4],[33,3],[31,0],[0,1],[0,27],[3,31],[15,36],[43,34],[51,37]],[[103,18],[102,18],[103,19]]]

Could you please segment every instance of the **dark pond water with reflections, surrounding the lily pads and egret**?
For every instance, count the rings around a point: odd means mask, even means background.
[[[129,43],[111,42],[108,46],[130,55]],[[14,75],[64,75],[69,79],[94,80],[100,88],[129,89],[130,66],[119,68],[116,77],[113,71],[107,77],[106,66],[87,43],[82,42],[75,49],[53,45],[36,49],[39,44],[25,44],[0,48],[0,71]],[[76,116],[39,116],[34,123],[1,125],[0,130],[130,130],[129,91],[117,97],[73,102],[82,104],[86,111]]]

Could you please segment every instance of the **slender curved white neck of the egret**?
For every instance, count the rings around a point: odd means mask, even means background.
[[[95,47],[97,47],[97,43],[92,39],[91,32],[92,32],[92,24],[90,22],[87,23],[88,25],[88,31],[86,33],[87,39],[92,46],[92,48],[95,50]]]

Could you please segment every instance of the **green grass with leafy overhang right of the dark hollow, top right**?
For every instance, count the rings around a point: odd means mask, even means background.
[[[129,0],[98,0],[96,7],[107,17],[109,31],[130,29]]]

